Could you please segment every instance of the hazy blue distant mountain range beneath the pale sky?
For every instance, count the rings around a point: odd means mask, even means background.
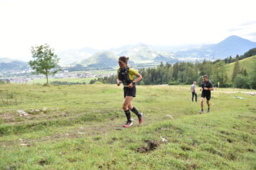
[[[240,36],[229,36],[218,44],[202,46],[148,46],[136,44],[121,46],[115,49],[98,50],[91,48],[69,49],[60,51],[61,66],[75,66],[79,64],[85,67],[117,66],[119,56],[128,56],[131,64],[152,64],[161,61],[174,64],[178,61],[202,61],[224,59],[227,56],[244,54],[255,48],[256,42],[242,39]],[[23,69],[28,64],[22,61],[0,58],[0,70]]]

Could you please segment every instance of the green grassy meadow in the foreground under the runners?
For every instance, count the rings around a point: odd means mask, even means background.
[[[137,91],[145,121],[123,129],[122,87],[1,85],[0,169],[256,169],[252,91],[213,91],[210,114],[189,86]]]

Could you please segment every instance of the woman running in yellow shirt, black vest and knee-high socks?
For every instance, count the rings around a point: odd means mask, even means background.
[[[136,116],[138,116],[138,123],[141,124],[143,122],[142,113],[139,113],[136,107],[133,106],[132,100],[133,97],[136,97],[136,83],[142,79],[141,74],[138,74],[137,71],[128,67],[128,57],[120,56],[118,59],[118,64],[120,68],[118,69],[118,79],[117,85],[120,86],[123,83],[123,111],[125,112],[125,116],[127,118],[126,124],[123,127],[127,128],[133,125],[131,121],[131,111],[133,111]],[[137,76],[137,79],[134,79],[134,76]]]

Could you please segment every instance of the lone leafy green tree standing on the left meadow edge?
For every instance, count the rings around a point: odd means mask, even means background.
[[[46,85],[48,85],[49,75],[54,75],[60,71],[60,66],[57,65],[60,59],[54,54],[54,49],[51,49],[47,44],[32,46],[31,51],[34,60],[29,61],[29,65],[34,70],[32,73],[44,74],[47,79]]]

